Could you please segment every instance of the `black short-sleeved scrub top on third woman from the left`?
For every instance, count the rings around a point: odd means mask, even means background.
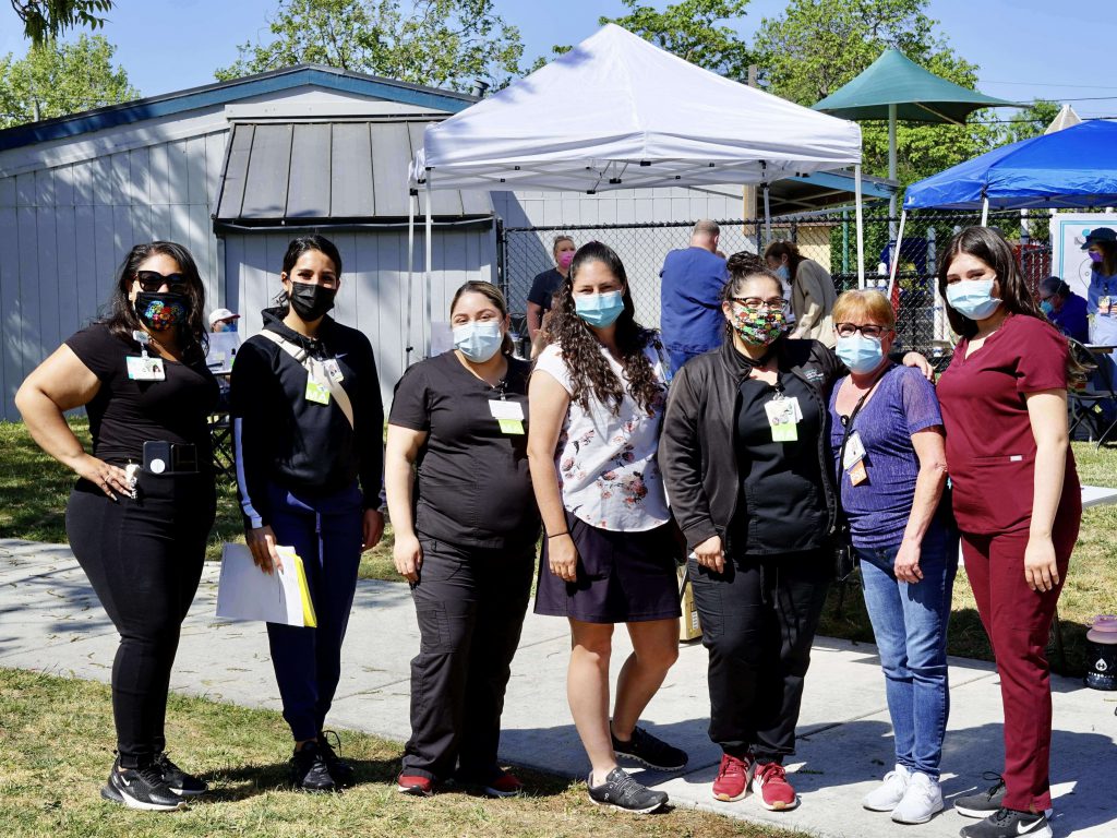
[[[491,388],[450,351],[403,373],[388,421],[427,432],[414,487],[420,535],[494,549],[524,546],[538,536],[527,470],[531,369],[509,358],[504,387]],[[489,402],[502,400],[521,406],[524,434],[500,430]]]

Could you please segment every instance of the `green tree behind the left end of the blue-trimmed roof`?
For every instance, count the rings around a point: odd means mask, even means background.
[[[83,35],[0,58],[0,128],[139,98],[124,68],[113,66],[115,51],[103,36]]]

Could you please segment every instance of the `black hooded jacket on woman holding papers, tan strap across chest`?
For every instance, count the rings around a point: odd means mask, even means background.
[[[380,506],[384,466],[384,407],[372,344],[363,333],[323,318],[318,337],[304,337],[283,323],[286,308],[264,312],[264,328],[335,359],[353,403],[351,427],[336,399],[306,398],[306,369],[278,344],[249,337],[232,365],[230,399],[237,478],[246,526],[270,524],[267,485],[309,496],[344,489],[360,477],[364,507]]]

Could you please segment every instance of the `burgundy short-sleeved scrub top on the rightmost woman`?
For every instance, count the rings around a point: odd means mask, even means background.
[[[966,533],[1027,531],[1032,517],[1035,439],[1027,393],[1067,389],[1070,349],[1050,323],[1010,314],[981,349],[966,358],[962,339],[938,382],[946,428],[946,466],[954,515]],[[1073,453],[1057,517],[1078,515],[1081,489]]]

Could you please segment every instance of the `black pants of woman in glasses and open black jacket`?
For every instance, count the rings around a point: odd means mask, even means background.
[[[833,573],[830,550],[688,566],[709,651],[709,737],[733,756],[783,762]]]

